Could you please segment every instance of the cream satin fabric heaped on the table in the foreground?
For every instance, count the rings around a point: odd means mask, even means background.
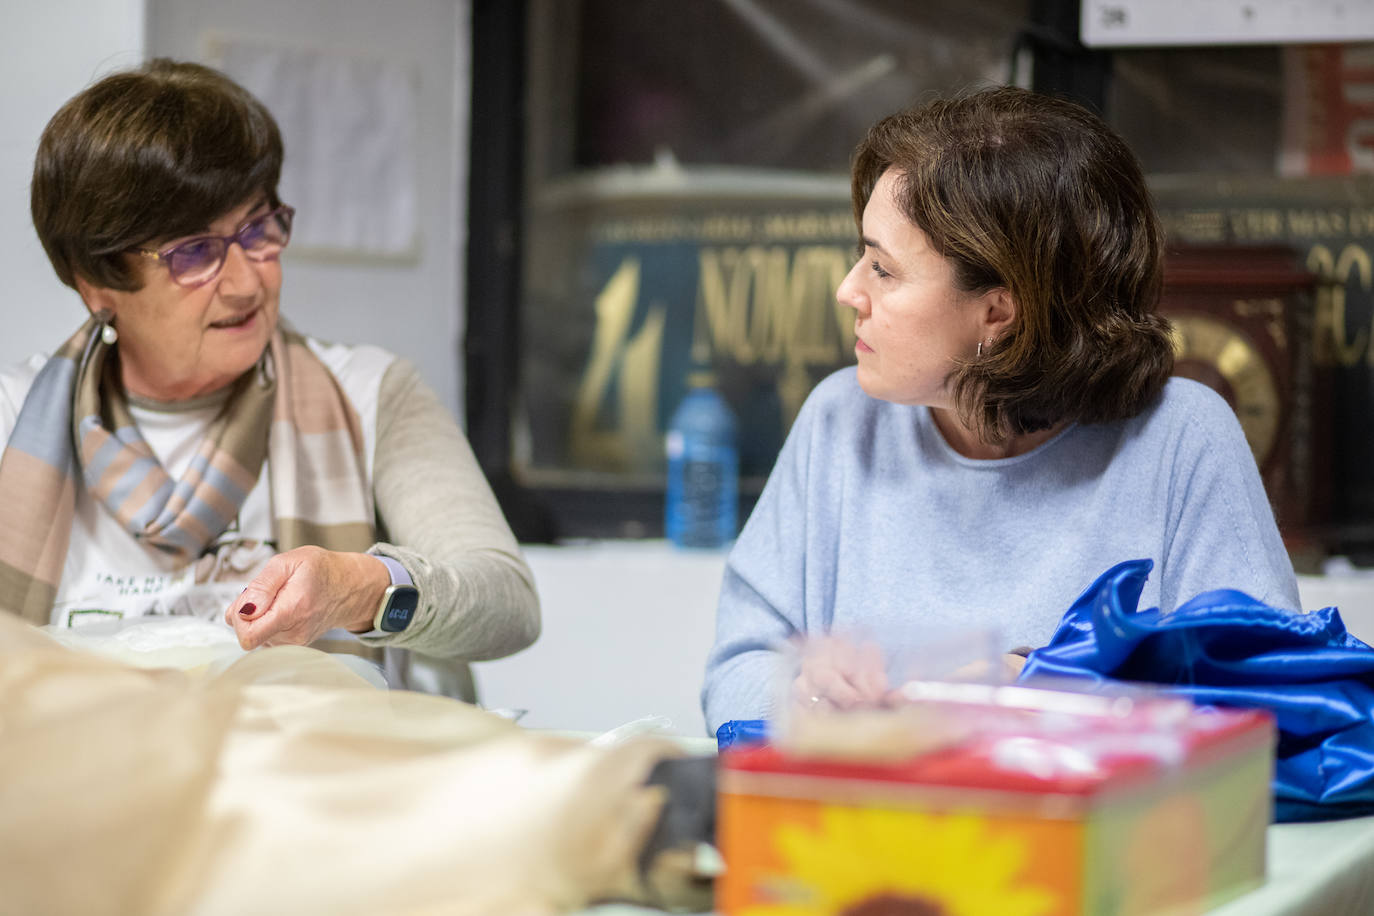
[[[534,916],[643,900],[675,751],[523,732],[282,647],[144,670],[0,614],[0,912]]]

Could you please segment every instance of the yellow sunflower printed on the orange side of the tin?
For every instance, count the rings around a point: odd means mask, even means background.
[[[1028,886],[1026,851],[976,814],[827,806],[815,829],[774,835],[789,878],[742,916],[1044,916],[1058,904]]]

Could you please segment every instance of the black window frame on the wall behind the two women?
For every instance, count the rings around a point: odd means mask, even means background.
[[[522,542],[661,537],[664,488],[530,486],[513,464],[519,397],[521,254],[528,115],[525,0],[473,0],[464,409],[467,437]],[[1033,88],[1102,110],[1110,56],[1079,43],[1077,0],[1033,0],[1018,47],[1032,56]],[[761,485],[742,485],[746,519]]]

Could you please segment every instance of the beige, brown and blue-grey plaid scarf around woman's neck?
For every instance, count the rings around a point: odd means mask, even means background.
[[[0,608],[48,622],[80,485],[131,537],[191,563],[238,516],[267,459],[278,551],[372,545],[361,424],[305,338],[278,328],[173,481],[139,434],[100,330],[92,317],[38,371],[0,452]]]

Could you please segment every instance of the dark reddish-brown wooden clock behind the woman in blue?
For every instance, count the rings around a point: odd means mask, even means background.
[[[1330,503],[1326,376],[1312,358],[1316,277],[1283,247],[1176,247],[1160,310],[1175,374],[1235,409],[1285,544],[1303,566],[1325,553]]]

